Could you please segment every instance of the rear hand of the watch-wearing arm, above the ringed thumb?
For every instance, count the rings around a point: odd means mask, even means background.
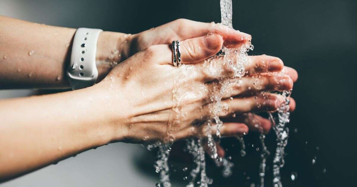
[[[170,44],[174,40],[183,41],[189,38],[216,33],[223,37],[224,46],[238,47],[250,42],[251,36],[238,32],[221,24],[203,23],[178,19],[134,35],[117,32],[102,32],[97,43],[96,59],[99,71],[98,80],[102,80],[111,70],[108,64],[118,64],[135,53],[152,45]]]

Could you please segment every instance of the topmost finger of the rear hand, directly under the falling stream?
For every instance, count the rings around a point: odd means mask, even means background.
[[[236,47],[244,43],[249,43],[252,39],[251,35],[236,31],[222,24],[204,23],[187,19],[178,19],[168,24],[172,25],[171,28],[174,32],[180,33],[178,38],[173,38],[173,40],[186,40],[188,38],[204,36],[208,33],[216,33],[223,37],[225,46]],[[169,44],[172,40],[167,42],[167,44]]]

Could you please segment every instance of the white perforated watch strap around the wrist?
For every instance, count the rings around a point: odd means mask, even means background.
[[[74,35],[67,78],[73,90],[92,86],[98,78],[95,63],[97,41],[103,30],[78,28]]]

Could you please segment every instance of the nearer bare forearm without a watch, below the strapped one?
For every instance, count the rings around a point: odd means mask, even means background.
[[[89,87],[0,100],[0,181],[119,140],[107,94]]]

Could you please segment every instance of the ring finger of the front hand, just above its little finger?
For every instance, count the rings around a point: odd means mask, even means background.
[[[285,102],[284,97],[278,94],[226,99],[222,100],[220,116],[227,116],[232,113],[276,111],[283,102]]]

